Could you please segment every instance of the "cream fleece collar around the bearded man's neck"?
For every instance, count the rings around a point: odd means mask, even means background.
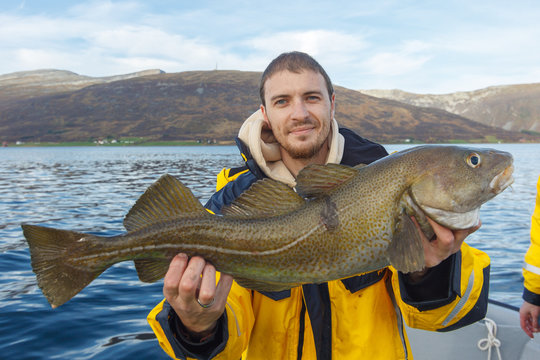
[[[251,152],[251,156],[266,176],[296,186],[296,180],[289,169],[281,161],[279,144],[270,130],[263,130],[264,116],[259,109],[254,112],[240,128],[238,138],[242,140]],[[330,149],[326,163],[339,164],[343,157],[345,138],[339,133],[336,119],[331,124]]]

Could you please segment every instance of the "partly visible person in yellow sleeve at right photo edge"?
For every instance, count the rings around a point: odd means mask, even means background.
[[[532,338],[535,332],[540,332],[540,177],[536,184],[536,206],[531,219],[531,245],[525,254],[523,277],[525,283],[519,320],[523,331]]]

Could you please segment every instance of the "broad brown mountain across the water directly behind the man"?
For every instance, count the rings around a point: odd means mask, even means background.
[[[244,119],[259,107],[260,76],[244,71],[154,71],[89,78],[54,70],[3,75],[0,141],[107,137],[230,141]],[[443,110],[379,99],[339,86],[336,98],[338,122],[375,141],[538,140]]]

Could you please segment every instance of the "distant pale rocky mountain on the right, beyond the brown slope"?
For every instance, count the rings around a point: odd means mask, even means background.
[[[422,95],[401,90],[360,92],[410,105],[443,109],[506,130],[540,134],[540,83],[492,86],[444,95]]]

